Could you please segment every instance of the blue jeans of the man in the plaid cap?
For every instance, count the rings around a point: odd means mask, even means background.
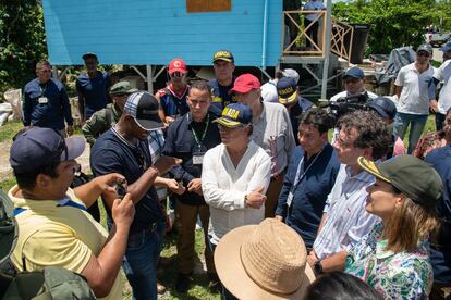
[[[133,289],[133,299],[157,299],[157,264],[163,246],[166,222],[154,232],[143,230],[129,236],[122,267]]]

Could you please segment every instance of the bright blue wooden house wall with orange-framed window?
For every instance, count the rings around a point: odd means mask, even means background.
[[[215,4],[216,3],[216,4]],[[44,0],[49,59],[82,64],[211,65],[219,49],[237,66],[276,66],[281,52],[282,0]],[[229,4],[229,5],[228,5]],[[190,8],[191,7],[191,8]]]

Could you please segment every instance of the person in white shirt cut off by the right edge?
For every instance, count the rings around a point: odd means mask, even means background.
[[[444,45],[440,48],[441,51],[444,53],[451,54],[451,41]],[[447,115],[447,111],[451,108],[451,60],[444,60],[443,63],[440,65],[439,68],[437,68],[434,73],[434,83],[431,85],[432,87],[432,95],[430,96],[430,107],[436,112],[436,128],[437,132],[441,130],[443,128],[443,122],[444,117]],[[435,99],[435,91],[437,84],[443,82],[439,100]]]

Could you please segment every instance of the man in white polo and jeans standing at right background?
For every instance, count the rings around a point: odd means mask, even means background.
[[[393,133],[404,139],[409,124],[407,153],[411,154],[418,143],[429,115],[429,85],[434,76],[434,67],[429,64],[432,47],[424,43],[416,50],[415,62],[403,66],[398,73],[395,92],[398,96],[398,113],[394,117]]]

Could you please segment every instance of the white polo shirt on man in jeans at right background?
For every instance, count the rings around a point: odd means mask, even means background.
[[[419,74],[415,63],[407,64],[398,73],[394,85],[402,87],[398,100],[398,112],[425,115],[429,114],[429,84],[432,80],[434,66]]]

